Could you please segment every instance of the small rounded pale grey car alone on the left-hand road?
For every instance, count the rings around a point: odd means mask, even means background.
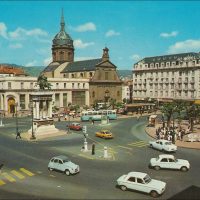
[[[80,172],[79,165],[74,164],[67,156],[60,155],[51,158],[48,164],[50,171],[58,170],[64,172],[67,176]]]

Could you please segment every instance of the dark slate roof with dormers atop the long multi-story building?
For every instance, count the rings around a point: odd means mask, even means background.
[[[154,56],[154,57],[146,57],[140,61],[138,61],[135,64],[138,64],[139,62],[144,63],[161,63],[161,62],[173,62],[185,57],[194,57],[200,59],[199,53],[189,52],[189,53],[180,53],[180,54],[171,54],[171,55],[162,55],[162,56]]]

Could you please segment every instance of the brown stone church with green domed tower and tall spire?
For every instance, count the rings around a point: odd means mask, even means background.
[[[112,99],[122,101],[122,81],[117,67],[109,59],[109,49],[103,49],[101,58],[74,61],[73,40],[65,31],[62,13],[60,32],[52,41],[52,62],[43,70],[48,78],[87,79],[89,83],[89,104],[109,103]],[[72,98],[84,101],[84,92],[72,92]],[[83,102],[81,102],[83,104]]]

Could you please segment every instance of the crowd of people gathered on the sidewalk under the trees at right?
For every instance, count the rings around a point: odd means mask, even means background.
[[[185,134],[186,130],[178,127],[159,127],[156,129],[156,139],[165,139],[173,144],[175,144],[176,140],[182,141]]]

